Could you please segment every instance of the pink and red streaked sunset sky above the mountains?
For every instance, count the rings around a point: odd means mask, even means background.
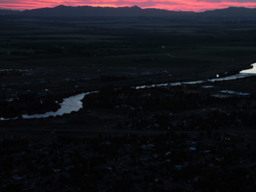
[[[25,10],[32,8],[67,6],[140,6],[141,8],[161,8],[200,12],[228,6],[256,8],[256,0],[0,0],[0,8]]]

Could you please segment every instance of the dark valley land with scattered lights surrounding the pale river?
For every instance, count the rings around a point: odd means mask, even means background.
[[[255,191],[253,20],[0,22],[1,191]]]

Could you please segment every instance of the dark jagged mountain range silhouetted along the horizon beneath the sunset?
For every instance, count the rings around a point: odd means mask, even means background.
[[[229,7],[205,12],[175,12],[157,8],[132,7],[100,7],[100,6],[65,6],[54,8],[38,8],[33,10],[15,11],[0,10],[0,15],[24,15],[38,17],[227,17],[256,19],[256,8]]]

